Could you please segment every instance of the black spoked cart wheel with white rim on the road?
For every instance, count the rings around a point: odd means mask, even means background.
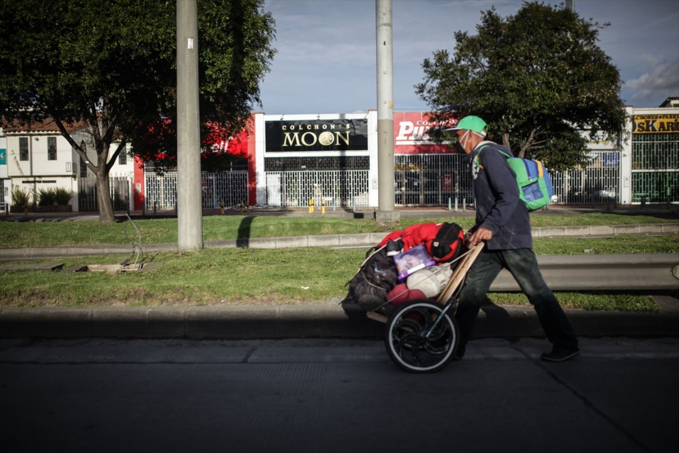
[[[412,373],[437,372],[453,357],[459,342],[454,316],[444,314],[426,338],[442,309],[443,306],[433,300],[414,300],[400,306],[389,317],[384,344],[389,357],[399,367]]]

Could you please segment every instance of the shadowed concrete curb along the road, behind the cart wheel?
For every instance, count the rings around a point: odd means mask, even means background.
[[[579,336],[678,336],[679,310],[566,310]],[[3,308],[0,338],[382,338],[338,305]],[[532,308],[483,306],[476,337],[544,336]]]

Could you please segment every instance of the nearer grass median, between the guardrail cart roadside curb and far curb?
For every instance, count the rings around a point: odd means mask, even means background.
[[[679,253],[679,235],[612,238],[543,238],[538,255],[583,253]],[[117,264],[130,255],[35,262]],[[0,272],[1,306],[166,306],[336,304],[358,269],[364,249],[203,249],[152,257],[148,272]],[[149,257],[151,259],[151,257]],[[595,276],[593,276],[595,278]],[[644,295],[559,293],[566,307],[657,311]],[[492,295],[499,304],[527,304],[520,294]]]

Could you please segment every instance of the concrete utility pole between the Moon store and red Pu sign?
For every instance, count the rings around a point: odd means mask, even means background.
[[[394,58],[391,0],[375,0],[378,67],[378,222],[396,222],[394,211]]]

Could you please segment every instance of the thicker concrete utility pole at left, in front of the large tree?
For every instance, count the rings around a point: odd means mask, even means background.
[[[177,248],[203,248],[198,111],[198,4],[177,1]]]

